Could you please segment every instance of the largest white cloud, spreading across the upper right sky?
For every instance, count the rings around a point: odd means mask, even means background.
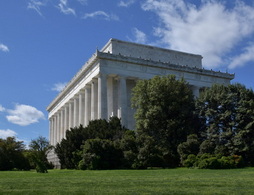
[[[207,68],[225,64],[225,59],[244,38],[254,33],[254,7],[236,1],[204,0],[200,6],[184,0],[146,0],[143,10],[155,12],[160,21],[154,33],[171,49],[203,55]]]

